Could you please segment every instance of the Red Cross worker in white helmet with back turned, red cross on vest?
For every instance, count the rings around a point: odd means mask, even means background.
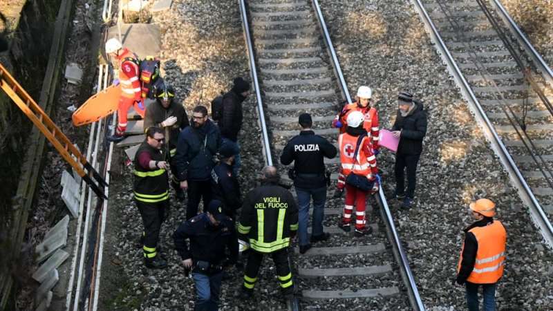
[[[355,205],[355,236],[364,236],[370,234],[372,228],[366,225],[365,207],[366,196],[369,193],[378,191],[376,158],[373,154],[373,145],[371,139],[366,136],[366,131],[363,127],[364,115],[360,111],[353,111],[348,115],[348,127],[346,133],[339,135],[338,144],[340,148],[340,165],[341,171],[339,176],[338,187],[346,188],[346,202],[344,204],[344,214],[339,227],[346,232],[350,231],[351,216],[353,214],[353,205]],[[359,136],[364,135],[359,144],[357,157],[355,149]],[[345,183],[346,176],[350,173],[355,173],[359,176],[374,182],[374,187],[371,191],[364,191],[352,185]]]

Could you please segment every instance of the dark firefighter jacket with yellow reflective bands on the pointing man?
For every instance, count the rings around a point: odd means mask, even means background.
[[[140,166],[139,155],[149,153],[151,160],[164,161],[165,154],[162,150],[151,147],[147,142],[142,142],[134,160],[134,197],[136,200],[155,203],[169,199],[169,173],[165,169],[150,169]]]

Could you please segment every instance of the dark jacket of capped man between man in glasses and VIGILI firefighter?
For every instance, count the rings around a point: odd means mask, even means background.
[[[242,207],[240,184],[229,164],[221,162],[212,169],[212,191],[213,198],[223,202],[225,214],[234,215]]]

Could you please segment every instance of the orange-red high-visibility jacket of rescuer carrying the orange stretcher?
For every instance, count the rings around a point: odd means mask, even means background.
[[[138,57],[131,50],[124,48],[123,53],[118,56],[119,83],[121,84],[121,96],[140,100],[140,68]]]

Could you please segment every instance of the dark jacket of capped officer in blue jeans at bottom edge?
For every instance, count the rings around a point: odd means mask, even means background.
[[[180,258],[192,258],[194,263],[208,261],[218,265],[225,259],[225,247],[232,245],[230,239],[234,232],[234,222],[228,216],[214,227],[207,214],[200,214],[182,223],[173,234],[175,248]],[[190,247],[186,239],[190,240]]]

